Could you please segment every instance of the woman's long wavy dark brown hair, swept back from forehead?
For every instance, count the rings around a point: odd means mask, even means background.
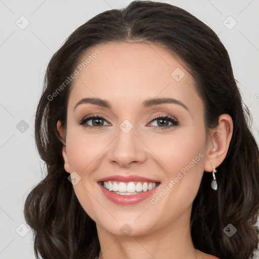
[[[51,96],[89,48],[107,42],[146,42],[167,49],[183,61],[195,80],[206,130],[218,125],[221,114],[232,117],[233,136],[227,156],[217,168],[218,190],[210,188],[211,175],[203,174],[192,206],[191,236],[195,248],[221,259],[254,258],[259,233],[258,146],[228,52],[217,34],[199,19],[179,7],[152,1],[134,1],[98,14],[79,26],[49,62],[35,116],[36,147],[47,174],[32,188],[24,205],[36,257],[92,259],[100,251],[96,224],[67,179],[57,131],[58,120],[66,128],[73,80],[53,100]],[[228,224],[237,229],[232,237],[224,233]]]

